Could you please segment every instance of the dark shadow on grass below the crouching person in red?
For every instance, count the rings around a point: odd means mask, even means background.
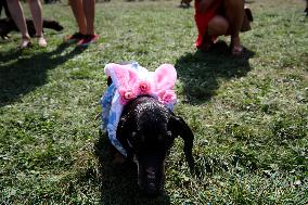
[[[252,69],[248,60],[254,54],[244,48],[243,56],[232,56],[227,43],[218,41],[208,52],[196,51],[178,59],[175,67],[188,103],[208,101],[216,93],[221,80],[246,76]]]

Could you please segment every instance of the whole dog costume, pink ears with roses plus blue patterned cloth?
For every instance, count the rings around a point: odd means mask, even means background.
[[[149,72],[138,63],[111,63],[105,66],[104,72],[112,78],[113,84],[101,98],[102,129],[107,130],[112,144],[126,156],[126,151],[116,138],[124,106],[137,97],[145,94],[156,98],[172,110],[177,102],[174,91],[177,72],[170,64],[163,64],[155,72]]]

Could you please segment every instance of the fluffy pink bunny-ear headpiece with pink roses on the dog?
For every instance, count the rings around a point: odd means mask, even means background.
[[[110,63],[105,66],[104,72],[112,78],[121,105],[144,94],[152,95],[171,107],[177,101],[174,91],[177,72],[170,64],[163,64],[155,72],[149,72],[138,63],[132,65]]]

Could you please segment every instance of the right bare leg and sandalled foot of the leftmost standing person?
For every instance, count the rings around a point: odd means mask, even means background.
[[[46,47],[47,42],[42,33],[42,12],[40,0],[28,0],[28,4],[33,14],[34,25],[36,28],[36,36],[38,37],[39,46]]]

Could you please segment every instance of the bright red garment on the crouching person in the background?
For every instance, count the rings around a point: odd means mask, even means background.
[[[214,41],[217,38],[217,36],[208,37],[206,35],[206,30],[207,30],[209,21],[219,13],[219,8],[221,8],[222,0],[214,0],[210,7],[208,8],[208,10],[204,13],[200,12],[201,10],[200,3],[201,3],[200,0],[195,0],[194,20],[195,20],[195,24],[197,27],[197,39],[195,41],[196,48],[201,48],[204,40]],[[211,38],[211,39],[205,39],[205,38]]]

